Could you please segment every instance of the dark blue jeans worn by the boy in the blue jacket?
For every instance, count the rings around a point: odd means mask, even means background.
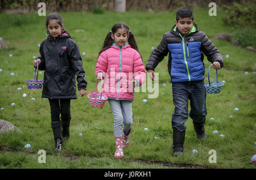
[[[174,114],[172,114],[172,128],[177,131],[184,131],[184,123],[188,119],[188,100],[190,100],[191,110],[189,117],[193,119],[195,125],[199,128],[204,127],[207,115],[206,108],[206,90],[204,80],[195,82],[173,82],[172,96],[174,100]]]

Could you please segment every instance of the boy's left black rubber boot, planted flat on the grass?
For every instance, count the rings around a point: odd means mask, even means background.
[[[173,139],[173,145],[172,148],[174,149],[174,152],[172,152],[172,156],[179,156],[183,155],[183,144],[185,140],[185,130],[184,131],[177,131],[174,130],[172,134]]]

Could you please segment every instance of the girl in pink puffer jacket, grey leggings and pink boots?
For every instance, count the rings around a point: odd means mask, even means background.
[[[102,91],[108,96],[114,116],[115,158],[122,158],[123,148],[129,144],[134,87],[142,85],[146,78],[138,51],[128,25],[117,23],[107,34],[96,64],[95,75],[104,79]]]

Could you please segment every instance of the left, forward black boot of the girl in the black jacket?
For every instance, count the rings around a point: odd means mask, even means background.
[[[63,138],[61,136],[61,123],[60,121],[52,122],[52,132],[55,141],[55,151],[59,152],[62,149]]]

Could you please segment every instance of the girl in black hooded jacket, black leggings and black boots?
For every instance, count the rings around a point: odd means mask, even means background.
[[[55,151],[61,151],[63,140],[69,138],[70,102],[77,98],[76,80],[81,96],[86,94],[87,82],[79,47],[64,31],[61,15],[49,14],[46,27],[48,37],[40,45],[40,56],[33,65],[39,63],[39,70],[44,70],[42,97],[49,99]]]

